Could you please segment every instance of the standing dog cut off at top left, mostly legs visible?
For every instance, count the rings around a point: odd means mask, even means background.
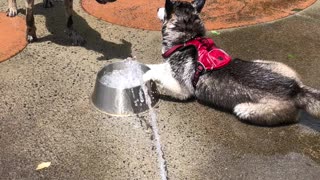
[[[97,0],[101,4],[105,4],[108,1],[114,0]],[[26,39],[28,42],[34,42],[37,40],[36,35],[36,26],[33,16],[33,7],[34,0],[25,0],[26,3],[26,24],[27,24],[27,33]],[[52,0],[43,0],[43,7],[50,8],[53,6]],[[65,13],[66,13],[66,33],[72,39],[73,45],[82,45],[85,40],[73,29],[73,0],[64,0]],[[17,15],[17,4],[16,0],[8,0],[8,11],[7,16],[14,17]]]

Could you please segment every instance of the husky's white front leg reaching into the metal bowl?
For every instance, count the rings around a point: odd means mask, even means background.
[[[151,69],[143,75],[143,81],[153,80],[157,83],[161,94],[174,97],[176,99],[188,99],[191,94],[184,90],[180,83],[172,76],[168,63],[148,65]]]

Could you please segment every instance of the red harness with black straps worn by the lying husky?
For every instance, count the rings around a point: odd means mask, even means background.
[[[192,84],[196,87],[200,75],[205,71],[217,70],[225,67],[231,62],[231,57],[222,49],[218,48],[210,38],[195,38],[185,44],[173,46],[162,54],[163,58],[170,57],[174,52],[181,48],[194,46],[198,51],[198,66],[193,76]]]

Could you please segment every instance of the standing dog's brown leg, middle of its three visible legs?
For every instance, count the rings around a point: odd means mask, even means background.
[[[26,0],[26,23],[27,23],[27,41],[34,42],[37,40],[36,26],[33,16],[34,0]]]

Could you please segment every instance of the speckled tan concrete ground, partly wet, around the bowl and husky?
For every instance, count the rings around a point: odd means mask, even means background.
[[[160,179],[148,114],[111,117],[90,103],[104,65],[162,61],[160,32],[100,21],[75,1],[87,44],[74,47],[62,3],[36,3],[39,42],[0,63],[0,179]],[[319,10],[318,1],[289,18],[208,35],[233,57],[284,62],[320,89]],[[319,179],[320,120],[305,113],[298,124],[267,128],[197,102],[161,100],[156,112],[170,179]],[[51,166],[36,171],[45,161]]]

